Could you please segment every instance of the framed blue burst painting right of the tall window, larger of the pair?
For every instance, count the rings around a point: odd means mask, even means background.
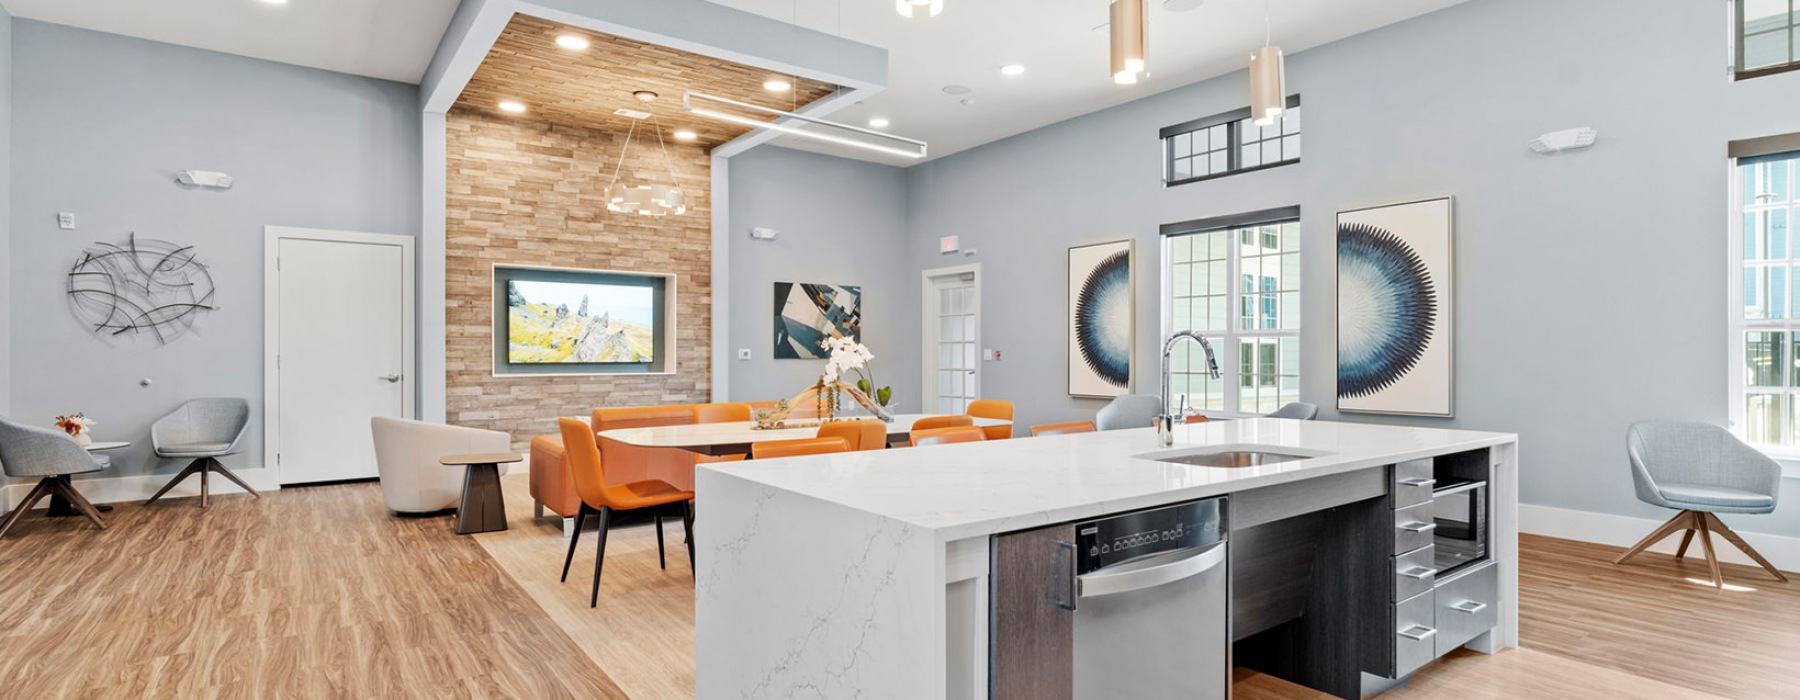
[[[1337,410],[1453,416],[1451,198],[1337,214]]]

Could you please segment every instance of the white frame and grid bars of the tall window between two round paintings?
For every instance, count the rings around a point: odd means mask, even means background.
[[[1238,238],[1235,236],[1235,232],[1242,230],[1242,229],[1253,229],[1253,227],[1264,227],[1264,225],[1280,225],[1280,223],[1296,223],[1298,225],[1300,223],[1300,207],[1287,207],[1285,211],[1282,211],[1280,216],[1274,216],[1274,214],[1269,214],[1269,212],[1251,212],[1251,214],[1244,214],[1242,221],[1233,223],[1231,220],[1233,218],[1220,218],[1219,220],[1220,225],[1202,225],[1202,223],[1188,221],[1188,223],[1172,223],[1172,225],[1165,225],[1163,227],[1163,230],[1165,230],[1165,236],[1161,236],[1161,239],[1163,239],[1163,257],[1161,257],[1161,265],[1159,265],[1161,266],[1161,275],[1159,275],[1161,277],[1161,284],[1159,284],[1161,297],[1157,301],[1157,306],[1159,306],[1157,313],[1159,313],[1159,319],[1161,319],[1159,326],[1161,326],[1161,331],[1163,331],[1161,333],[1163,338],[1168,338],[1175,331],[1184,331],[1184,328],[1175,328],[1175,320],[1174,320],[1174,317],[1175,317],[1175,304],[1174,304],[1174,299],[1175,299],[1174,297],[1174,284],[1175,284],[1174,274],[1175,274],[1175,268],[1174,268],[1174,254],[1172,254],[1174,239],[1181,238],[1181,236],[1197,236],[1197,234],[1217,232],[1217,230],[1231,232],[1233,234],[1231,241],[1226,245],[1226,250],[1228,250],[1228,256],[1226,256],[1226,275],[1231,281],[1229,284],[1226,284],[1226,317],[1229,320],[1226,322],[1226,329],[1224,331],[1201,331],[1201,335],[1204,335],[1208,338],[1208,342],[1211,342],[1211,338],[1219,338],[1219,342],[1213,342],[1213,358],[1215,358],[1215,362],[1219,362],[1219,381],[1224,381],[1224,385],[1226,385],[1226,390],[1224,390],[1226,405],[1224,405],[1224,410],[1197,408],[1193,412],[1199,414],[1199,416],[1206,416],[1206,417],[1231,417],[1231,419],[1240,419],[1240,417],[1256,417],[1256,416],[1262,416],[1262,414],[1258,414],[1258,412],[1244,412],[1242,405],[1240,405],[1244,376],[1242,376],[1242,371],[1240,371],[1240,365],[1238,365],[1238,342],[1244,340],[1244,338],[1294,338],[1294,342],[1298,344],[1300,342],[1300,331],[1305,328],[1307,308],[1305,308],[1305,304],[1300,306],[1300,320],[1298,320],[1296,328],[1291,328],[1291,329],[1249,329],[1249,331],[1242,329],[1242,313],[1244,313],[1244,284],[1242,284],[1242,281],[1244,281],[1244,266],[1242,266],[1242,245],[1238,243]],[[1168,234],[1172,229],[1179,229],[1181,234]],[[1301,266],[1305,266],[1305,252],[1303,250],[1305,250],[1305,243],[1301,243],[1301,250],[1296,250],[1298,254],[1301,254]],[[1296,292],[1305,293],[1305,274],[1303,272],[1301,272],[1300,279],[1301,279],[1301,283],[1300,283],[1301,286]],[[1256,295],[1260,297],[1262,293],[1256,292]],[[1260,304],[1262,301],[1258,299],[1256,302]],[[1161,347],[1157,351],[1161,351]],[[1301,347],[1301,351],[1303,351],[1303,347]],[[1161,354],[1157,354],[1157,360],[1161,360]],[[1157,367],[1157,372],[1161,372],[1161,367]],[[1305,380],[1305,374],[1298,374],[1298,378]],[[1157,374],[1157,380],[1161,381],[1161,374]],[[1179,398],[1179,394],[1177,396],[1170,396],[1168,401],[1170,403],[1179,403],[1181,398]],[[1190,405],[1192,403],[1193,401],[1190,401]]]

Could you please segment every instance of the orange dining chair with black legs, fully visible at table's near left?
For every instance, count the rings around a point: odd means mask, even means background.
[[[612,520],[612,511],[637,511],[670,504],[682,504],[688,567],[693,569],[693,491],[682,491],[664,480],[608,484],[594,430],[572,417],[560,417],[556,425],[563,434],[563,455],[569,462],[569,473],[574,477],[574,489],[581,497],[581,509],[574,515],[574,534],[569,538],[569,554],[563,556],[563,583],[569,581],[569,563],[574,561],[574,545],[581,542],[581,522],[589,515],[599,516],[599,534],[596,534],[599,543],[594,547],[594,590],[587,597],[587,606],[594,608],[599,605],[599,569],[607,561],[607,524]],[[661,534],[657,540],[661,549]]]

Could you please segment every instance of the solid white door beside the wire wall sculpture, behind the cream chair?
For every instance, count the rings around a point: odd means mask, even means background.
[[[373,479],[369,417],[412,412],[412,239],[270,229],[268,243],[281,482]]]

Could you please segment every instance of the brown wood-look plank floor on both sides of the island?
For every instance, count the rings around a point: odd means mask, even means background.
[[[693,585],[680,527],[610,534],[598,610],[592,529],[567,540],[502,480],[511,529],[394,518],[376,484],[29,515],[0,540],[0,696],[691,698]],[[1800,583],[1616,547],[1521,542],[1523,646],[1458,651],[1393,700],[1786,698],[1800,693]],[[1690,581],[1690,578],[1694,581]],[[1319,700],[1240,669],[1238,700]]]

